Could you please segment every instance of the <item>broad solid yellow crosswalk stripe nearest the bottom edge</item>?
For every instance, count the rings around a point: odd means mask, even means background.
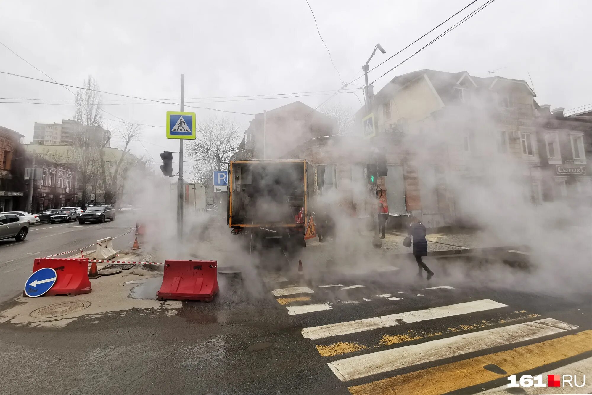
[[[592,351],[592,330],[585,330],[575,335],[349,387],[348,390],[353,395],[444,394],[529,371],[590,351]],[[497,374],[483,368],[489,364],[495,364],[504,369],[506,374]]]

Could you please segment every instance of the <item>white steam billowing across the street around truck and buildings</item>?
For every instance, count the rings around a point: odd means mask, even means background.
[[[455,115],[444,121],[446,127],[442,127],[442,122],[436,125],[427,121],[411,130],[397,143],[400,155],[404,155],[407,165],[417,168],[442,167],[446,204],[452,211],[452,221],[456,217],[471,224],[484,245],[529,247],[532,267],[514,269],[490,260],[483,265],[450,259],[436,262],[428,257],[425,262],[436,272],[432,282],[543,290],[557,295],[589,294],[592,287],[589,199],[533,205],[530,199],[530,165],[533,163],[525,161],[520,151],[497,152],[499,126],[494,126],[496,123],[487,114],[471,122],[466,120],[465,113]],[[462,152],[468,129],[474,132],[471,154]],[[361,140],[343,136],[337,136],[335,141],[343,152],[350,152],[361,144]],[[218,260],[219,268],[236,267],[243,271],[243,278],[249,279],[244,282],[249,284],[244,292],[251,296],[261,297],[265,293],[260,281],[261,268],[281,269],[293,275],[299,259],[305,263],[307,278],[314,282],[335,276],[351,275],[356,279],[359,277],[352,273],[361,270],[369,273],[385,265],[401,267],[397,281],[417,281],[413,257],[410,254],[395,257],[387,251],[374,249],[369,218],[363,218],[360,208],[359,218],[352,215],[351,205],[343,203],[347,199],[344,200],[337,190],[310,200],[313,211],[324,206],[332,216],[336,225],[332,240],[324,244],[316,240],[309,242],[307,249],[253,250],[249,237],[230,234],[224,213],[217,217],[186,212],[184,238],[179,240],[175,193],[170,192],[176,184],[169,186],[170,179],[141,179],[133,174],[131,180],[137,180],[137,189],[141,190],[134,196],[133,204],[143,208],[140,216],[147,226],[145,243],[156,251],[159,259],[211,259]],[[344,182],[339,180],[338,172],[337,183]],[[431,185],[432,190],[439,186]],[[368,196],[366,207],[374,214],[375,201],[369,196],[368,187],[355,183],[351,183],[351,187],[353,192]],[[381,276],[378,272],[375,275]]]

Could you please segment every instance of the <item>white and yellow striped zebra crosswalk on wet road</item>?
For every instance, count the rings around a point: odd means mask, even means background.
[[[517,310],[495,298],[470,300],[459,294],[464,301],[431,307],[433,301],[452,300],[452,294],[445,294],[456,291],[450,285],[380,291],[336,283],[271,292],[289,316],[305,314],[305,322],[314,324],[303,327],[301,336],[312,343],[314,358],[326,362],[336,386],[345,385],[355,395],[431,395],[464,389],[506,395],[513,392],[500,386],[504,378],[540,371],[548,364],[561,365],[549,374],[592,373],[592,330]],[[339,292],[353,294],[340,300]],[[440,292],[438,298],[435,292]],[[331,298],[323,300],[327,295]],[[413,310],[414,306],[421,308]],[[357,309],[357,319],[343,320],[352,308]],[[372,314],[385,310],[388,314]],[[569,393],[537,388],[526,393]],[[585,388],[590,392],[592,384]]]

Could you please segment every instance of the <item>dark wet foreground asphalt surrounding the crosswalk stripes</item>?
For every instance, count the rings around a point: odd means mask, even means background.
[[[438,263],[432,265],[440,273],[446,270]],[[466,270],[471,268],[467,267]],[[311,304],[329,302],[332,309],[290,316],[285,306],[280,305],[269,292],[286,283],[260,282],[255,285],[252,280],[245,278],[241,281],[220,276],[220,296],[214,302],[184,302],[176,316],[169,317],[164,311],[137,309],[127,311],[125,316],[112,313],[99,318],[82,317],[64,329],[34,329],[2,324],[2,392],[346,394],[347,387],[352,384],[368,383],[532,342],[498,346],[487,351],[342,383],[327,367],[327,362],[343,356],[321,356],[315,345],[339,341],[372,347],[385,334],[401,333],[403,329],[365,331],[329,340],[307,340],[301,335],[301,329],[482,299],[491,299],[508,307],[472,313],[470,317],[455,316],[406,324],[404,331],[445,332],[446,328],[464,324],[465,332],[477,332],[482,329],[472,328],[471,324],[483,320],[497,322],[512,316],[516,318],[513,323],[520,323],[534,319],[520,318],[525,314],[563,320],[580,326],[578,330],[592,327],[589,292],[546,294],[543,288],[540,292],[521,292],[516,289],[488,288],[483,283],[466,280],[444,284],[437,276],[426,282],[414,278],[414,269],[404,267],[381,273],[380,276],[375,273],[365,277],[356,275],[355,280],[345,273],[323,278],[325,284],[365,285],[343,291],[318,288],[321,283],[308,279],[305,282],[314,289],[313,294],[287,297],[310,297]],[[449,285],[453,289],[423,289],[436,285]],[[385,293],[400,295],[401,299],[388,300],[377,296]],[[147,294],[153,294],[153,290]],[[494,327],[503,325],[507,323],[496,323]],[[452,335],[444,333],[440,337]],[[552,337],[557,336],[546,336],[537,341]],[[411,339],[404,345],[425,341]],[[387,348],[395,346],[398,345]],[[365,352],[355,351],[345,356]],[[487,387],[505,383],[505,379],[497,380],[488,383]],[[473,390],[476,392],[479,388]]]

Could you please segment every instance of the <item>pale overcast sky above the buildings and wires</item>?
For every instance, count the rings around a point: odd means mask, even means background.
[[[338,77],[321,42],[305,0],[295,1],[2,1],[0,42],[55,79],[82,85],[93,75],[101,90],[142,98],[176,98],[185,74],[189,98],[337,90],[342,80],[361,75],[376,43],[372,65],[387,59],[471,0],[319,1],[308,0],[329,47]],[[486,0],[474,5],[370,73],[370,81],[452,26]],[[418,69],[468,71],[532,84],[539,104],[572,109],[592,103],[592,1],[496,0],[466,23],[391,71],[375,91],[396,75]],[[48,79],[0,45],[0,71]],[[362,84],[363,78],[355,84]],[[349,88],[360,88],[350,85]],[[355,89],[354,89],[355,90]],[[360,107],[362,91],[341,93],[330,103]],[[59,85],[0,74],[0,97],[72,99]],[[297,98],[188,103],[243,113],[260,113],[301,100],[311,107],[329,95]],[[165,137],[165,113],[174,104],[128,104],[104,94],[105,118],[144,126],[143,145],[133,154],[178,150]],[[213,99],[203,99],[213,100]],[[217,100],[236,100],[217,99]],[[73,106],[1,103],[0,125],[33,139],[34,122],[71,119]],[[30,100],[29,100],[30,101]],[[49,103],[49,102],[46,102]],[[56,102],[54,102],[56,103]],[[57,102],[61,103],[61,102]],[[126,103],[124,105],[112,105]],[[137,101],[135,102],[137,103]],[[144,102],[149,103],[149,102]],[[249,125],[253,116],[189,109],[199,117],[233,117]],[[115,117],[116,116],[116,117]],[[118,122],[105,119],[107,126]],[[116,144],[114,144],[116,145]]]

